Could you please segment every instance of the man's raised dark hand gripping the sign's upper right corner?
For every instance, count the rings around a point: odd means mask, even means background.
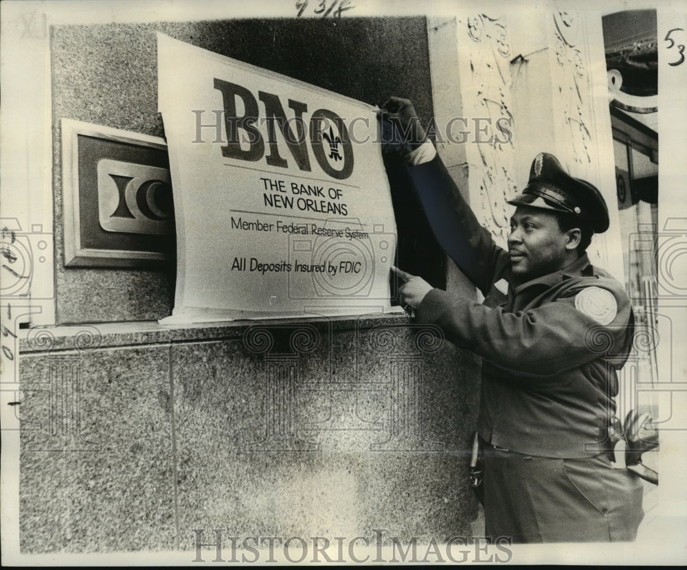
[[[407,154],[425,142],[425,129],[410,100],[390,97],[380,107],[383,152]]]

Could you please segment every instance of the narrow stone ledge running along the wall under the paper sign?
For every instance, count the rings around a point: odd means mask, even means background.
[[[409,324],[405,313],[379,315],[343,315],[339,317],[304,317],[291,319],[256,319],[161,325],[157,321],[120,323],[83,323],[23,329],[19,336],[19,353],[45,354],[65,350],[94,350],[135,345],[183,343],[238,339],[251,327],[284,328],[310,325],[330,326],[333,331],[370,329],[383,325]]]

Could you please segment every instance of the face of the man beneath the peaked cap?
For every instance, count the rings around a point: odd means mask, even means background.
[[[575,257],[569,232],[561,231],[556,214],[530,206],[518,206],[510,218],[508,254],[521,281],[558,271]]]

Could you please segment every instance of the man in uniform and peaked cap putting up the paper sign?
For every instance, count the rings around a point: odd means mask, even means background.
[[[412,135],[409,177],[436,238],[485,297],[477,304],[394,268],[416,319],[482,356],[477,433],[487,536],[634,540],[642,481],[616,468],[608,439],[633,312],[622,286],[585,253],[592,233],[609,227],[602,195],[541,152],[509,202],[505,251],[424,141],[412,103],[391,98],[383,108],[383,119]]]

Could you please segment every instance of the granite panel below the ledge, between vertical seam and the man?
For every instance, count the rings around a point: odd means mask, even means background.
[[[262,352],[244,341],[174,346],[181,547],[193,547],[195,529],[209,539],[214,528],[239,537],[470,534],[473,358],[448,343],[418,349],[408,326],[342,331],[331,342],[321,330],[319,343],[293,350],[298,331],[273,329]]]

